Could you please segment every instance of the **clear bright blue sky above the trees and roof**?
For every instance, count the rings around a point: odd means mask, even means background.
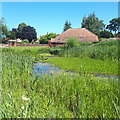
[[[19,23],[33,26],[38,34],[61,33],[66,20],[73,28],[80,28],[83,16],[95,12],[96,16],[108,24],[118,17],[117,2],[3,2],[2,16],[11,30]]]

